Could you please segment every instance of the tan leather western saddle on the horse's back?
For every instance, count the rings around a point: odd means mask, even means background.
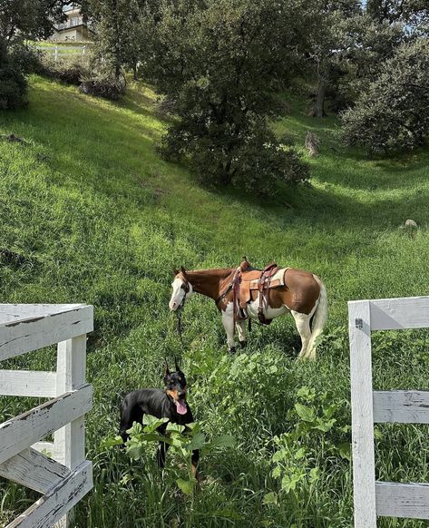
[[[273,279],[280,268],[275,262],[271,262],[264,269],[253,268],[246,257],[236,269],[234,277],[229,284],[229,287],[220,295],[217,303],[222,298],[225,298],[229,291],[233,292],[233,309],[234,309],[234,323],[239,319],[247,319],[248,303],[251,301],[251,292],[258,290],[259,292],[259,306],[258,319],[263,325],[269,325],[272,319],[266,318],[268,309],[269,289],[284,286],[281,279]]]

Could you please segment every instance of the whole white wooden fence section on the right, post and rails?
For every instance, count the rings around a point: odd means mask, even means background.
[[[374,423],[429,424],[429,392],[373,391],[371,331],[429,328],[429,297],[348,303],[356,528],[377,515],[429,519],[429,484],[375,482]]]

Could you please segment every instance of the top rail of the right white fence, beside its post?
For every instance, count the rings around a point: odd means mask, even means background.
[[[369,302],[372,330],[429,327],[429,297],[382,298]]]

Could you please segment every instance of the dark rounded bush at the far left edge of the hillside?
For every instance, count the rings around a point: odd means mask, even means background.
[[[27,103],[27,81],[14,55],[0,43],[0,109],[14,109]]]

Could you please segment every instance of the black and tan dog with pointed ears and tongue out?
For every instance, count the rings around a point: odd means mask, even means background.
[[[122,400],[121,423],[119,435],[125,443],[129,435],[127,430],[134,422],[142,424],[143,415],[169,418],[173,424],[187,425],[194,421],[190,406],[186,401],[186,377],[174,358],[175,371],[171,372],[167,362],[164,371],[164,389],[143,388],[128,393]],[[158,432],[165,435],[168,422],[158,427]],[[157,461],[160,467],[165,466],[165,455],[170,445],[160,442]],[[192,473],[197,476],[200,451],[192,451]]]

